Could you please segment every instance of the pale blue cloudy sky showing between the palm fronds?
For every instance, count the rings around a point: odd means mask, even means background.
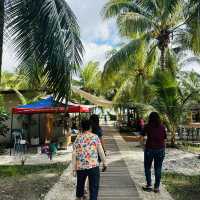
[[[99,61],[101,68],[106,61],[106,52],[111,50],[122,40],[118,36],[114,20],[103,21],[100,12],[107,0],[66,0],[70,5],[81,29],[81,39],[85,48],[84,63],[95,60]],[[14,71],[18,62],[10,44],[5,45],[3,56],[4,70]],[[200,73],[197,63],[190,63],[186,70]]]

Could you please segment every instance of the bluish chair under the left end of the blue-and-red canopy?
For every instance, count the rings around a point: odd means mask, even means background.
[[[22,139],[22,131],[20,129],[12,130],[12,135],[14,139],[14,152],[23,152],[26,151],[26,140]]]

